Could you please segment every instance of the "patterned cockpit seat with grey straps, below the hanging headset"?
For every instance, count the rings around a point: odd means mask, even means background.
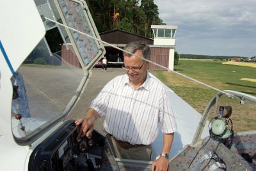
[[[170,161],[169,170],[253,170],[220,141],[207,137],[203,142],[200,149],[188,145]]]

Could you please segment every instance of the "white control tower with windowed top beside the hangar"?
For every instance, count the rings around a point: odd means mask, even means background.
[[[178,26],[151,25],[151,29],[154,33],[154,45],[159,45],[159,47],[163,48],[170,48],[168,68],[173,71],[175,34],[177,32]]]

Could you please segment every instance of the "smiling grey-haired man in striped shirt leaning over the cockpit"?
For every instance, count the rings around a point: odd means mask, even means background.
[[[158,122],[162,124],[164,143],[152,170],[167,170],[168,154],[177,126],[166,87],[147,73],[150,48],[143,42],[127,44],[124,50],[125,75],[113,78],[104,86],[86,117],[77,119],[78,138],[90,137],[98,117],[106,115],[103,130],[118,158],[150,160],[151,145],[157,138]],[[160,153],[160,151],[159,151]]]

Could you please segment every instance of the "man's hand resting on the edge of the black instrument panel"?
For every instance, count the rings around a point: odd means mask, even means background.
[[[86,135],[86,137],[90,137],[92,135],[94,123],[98,117],[99,114],[92,108],[89,108],[86,112],[86,117],[75,121],[75,124],[79,126],[77,128],[77,140],[84,137],[84,135]]]

